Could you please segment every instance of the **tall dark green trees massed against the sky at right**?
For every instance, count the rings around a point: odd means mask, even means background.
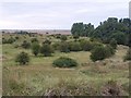
[[[109,17],[107,21],[100,22],[95,28],[94,25],[74,23],[71,27],[73,36],[85,36],[102,40],[109,44],[111,39],[118,45],[127,45],[131,47],[131,20]]]

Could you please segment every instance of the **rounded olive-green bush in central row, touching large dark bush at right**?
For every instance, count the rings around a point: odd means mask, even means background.
[[[81,40],[80,41],[81,48],[84,51],[91,51],[93,49],[93,44],[87,40]]]

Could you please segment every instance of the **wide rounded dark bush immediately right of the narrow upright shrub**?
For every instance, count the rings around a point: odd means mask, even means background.
[[[53,49],[48,44],[43,44],[43,46],[40,47],[40,53],[44,54],[45,57],[50,57],[52,52]]]

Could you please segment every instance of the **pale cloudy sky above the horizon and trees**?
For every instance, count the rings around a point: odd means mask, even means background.
[[[1,29],[70,29],[74,22],[97,26],[107,17],[128,17],[129,0],[4,0],[0,10]]]

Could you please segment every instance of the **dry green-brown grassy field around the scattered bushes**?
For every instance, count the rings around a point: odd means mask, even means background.
[[[3,35],[9,37],[9,35]],[[14,35],[15,36],[15,35]],[[39,41],[48,36],[36,36]],[[103,95],[109,81],[115,81],[120,95],[129,95],[129,63],[123,62],[128,47],[118,46],[114,57],[104,61],[92,62],[91,52],[80,51],[63,53],[56,51],[52,57],[34,57],[29,49],[15,48],[24,40],[21,36],[15,44],[2,45],[3,62],[3,95]],[[29,40],[29,37],[26,37]],[[50,37],[51,41],[60,41]],[[19,65],[14,59],[21,51],[29,53],[28,65]],[[72,69],[58,69],[52,66],[53,60],[59,57],[70,57],[79,62]]]

